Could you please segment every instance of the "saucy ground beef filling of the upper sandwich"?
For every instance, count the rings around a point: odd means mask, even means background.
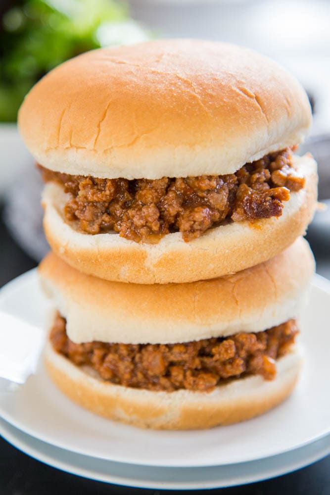
[[[279,217],[290,191],[304,187],[289,148],[247,163],[235,174],[217,176],[129,181],[40,168],[45,181],[63,184],[71,194],[64,214],[78,221],[82,232],[115,231],[147,243],[177,231],[188,242],[224,221]]]

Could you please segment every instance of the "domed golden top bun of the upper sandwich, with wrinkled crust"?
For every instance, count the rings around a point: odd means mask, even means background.
[[[300,143],[311,109],[297,80],[265,56],[161,40],[61,64],[26,96],[18,123],[51,170],[158,179],[233,173]]]

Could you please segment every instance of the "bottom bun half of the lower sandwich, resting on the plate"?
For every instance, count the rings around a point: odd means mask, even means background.
[[[273,381],[248,376],[218,386],[212,392],[153,392],[114,385],[45,349],[49,376],[80,406],[103,417],[141,428],[192,430],[229,425],[258,416],[282,402],[292,391],[301,366],[297,345],[277,360]]]

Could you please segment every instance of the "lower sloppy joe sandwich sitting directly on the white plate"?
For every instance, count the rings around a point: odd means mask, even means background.
[[[194,429],[259,415],[299,373],[299,312],[314,259],[299,238],[226,277],[138,285],[83,274],[50,253],[54,383],[81,406],[140,427]]]

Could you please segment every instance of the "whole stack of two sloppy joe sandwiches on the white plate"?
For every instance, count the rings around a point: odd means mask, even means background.
[[[289,395],[314,271],[316,163],[295,154],[310,121],[291,75],[223,43],[99,49],[31,90],[19,126],[46,181],[45,355],[65,394],[168,429]]]

